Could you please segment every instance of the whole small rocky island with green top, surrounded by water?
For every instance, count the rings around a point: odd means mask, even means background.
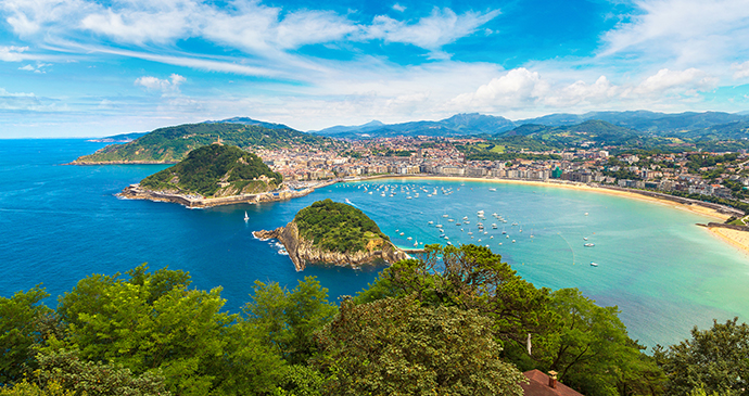
[[[285,227],[253,235],[283,244],[297,271],[316,263],[359,267],[408,258],[361,210],[330,199],[303,208]]]

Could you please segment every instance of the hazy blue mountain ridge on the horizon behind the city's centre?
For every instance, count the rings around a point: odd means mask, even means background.
[[[386,138],[396,136],[455,137],[479,133],[497,133],[512,129],[515,124],[504,117],[483,114],[457,114],[439,122],[410,122],[402,124],[382,124],[371,122],[360,126],[335,126],[310,131],[331,138]]]

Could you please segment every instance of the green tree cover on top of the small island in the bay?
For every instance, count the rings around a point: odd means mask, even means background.
[[[330,199],[303,208],[294,217],[294,222],[302,238],[330,252],[360,252],[371,240],[379,243],[389,241],[364,212]]]

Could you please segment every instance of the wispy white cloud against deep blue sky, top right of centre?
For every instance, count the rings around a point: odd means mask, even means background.
[[[481,25],[499,15],[499,10],[486,13],[467,12],[457,15],[450,9],[434,8],[429,16],[415,24],[378,15],[367,27],[365,38],[382,39],[385,42],[402,42],[428,50],[439,50],[445,44],[471,35]]]

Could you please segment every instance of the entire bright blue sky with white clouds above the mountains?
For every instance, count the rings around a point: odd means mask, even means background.
[[[749,110],[749,0],[0,0],[0,138]]]

